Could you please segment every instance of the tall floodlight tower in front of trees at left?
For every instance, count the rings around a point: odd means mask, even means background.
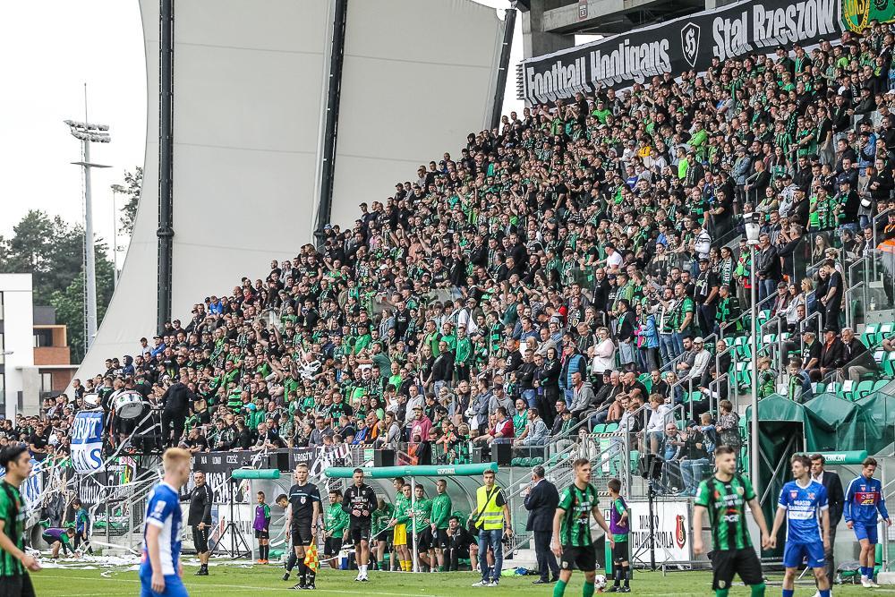
[[[86,93],[86,91],[85,91]],[[85,338],[87,348],[93,344],[93,338],[97,336],[97,266],[93,246],[93,207],[90,190],[90,170],[92,168],[107,168],[101,164],[90,162],[90,143],[108,143],[112,141],[109,136],[108,124],[93,124],[88,122],[76,122],[65,120],[72,137],[81,141],[80,162],[72,162],[84,169],[84,322],[87,328]]]

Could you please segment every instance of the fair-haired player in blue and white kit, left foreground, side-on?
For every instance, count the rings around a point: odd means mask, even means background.
[[[188,597],[180,565],[183,516],[178,494],[190,478],[192,454],[168,448],[162,456],[165,476],[149,494],[143,525],[143,559],[140,565],[141,597]]]

